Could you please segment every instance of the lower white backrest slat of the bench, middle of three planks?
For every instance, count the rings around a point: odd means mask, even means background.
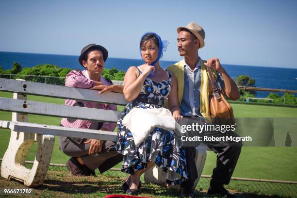
[[[0,110],[112,123],[116,123],[120,115],[118,111],[7,98],[0,98]]]

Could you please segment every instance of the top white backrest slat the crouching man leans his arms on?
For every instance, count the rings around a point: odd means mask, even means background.
[[[120,93],[109,92],[98,94],[98,90],[66,87],[40,82],[16,81],[3,78],[0,78],[0,91],[31,94],[37,96],[48,96],[62,99],[112,103],[118,105],[126,105],[128,103],[124,95]]]

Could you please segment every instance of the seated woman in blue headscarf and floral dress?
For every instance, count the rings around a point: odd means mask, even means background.
[[[184,150],[173,131],[154,128],[146,139],[136,147],[132,133],[122,124],[123,118],[133,108],[162,108],[168,98],[172,116],[181,119],[177,97],[177,81],[159,63],[166,43],[156,33],[146,33],[140,41],[141,57],[145,64],[131,66],[124,78],[124,95],[129,101],[118,119],[116,149],[124,155],[122,171],[129,173],[122,189],[128,194],[137,194],[140,175],[152,165],[163,171],[174,171],[180,177],[167,183],[180,184],[187,179]]]

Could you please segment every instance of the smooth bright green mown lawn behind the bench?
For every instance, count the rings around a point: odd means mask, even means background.
[[[12,97],[12,94],[0,92],[0,97]],[[64,99],[38,96],[28,96],[28,100],[64,104]],[[236,117],[297,118],[297,108],[244,104],[232,104],[232,107]],[[121,109],[122,107],[120,107]],[[11,114],[0,111],[0,120],[11,120]],[[59,125],[60,120],[57,117],[29,115],[29,121],[32,123]],[[0,129],[0,157],[4,155],[9,138],[10,131]],[[36,145],[29,151],[27,160],[32,161],[34,159],[34,149],[36,149]],[[65,164],[68,158],[59,150],[58,137],[55,137],[51,163]],[[215,161],[216,155],[212,151],[207,151],[202,174],[211,175]],[[116,165],[116,167],[120,166],[120,164]],[[297,147],[243,147],[233,177],[297,181]]]

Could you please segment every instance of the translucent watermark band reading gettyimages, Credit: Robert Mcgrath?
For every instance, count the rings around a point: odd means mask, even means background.
[[[220,121],[220,120],[219,120]],[[219,123],[232,123],[222,120]],[[235,124],[236,123],[236,124]],[[183,146],[297,146],[297,118],[235,118],[234,124],[183,118],[176,133]]]

